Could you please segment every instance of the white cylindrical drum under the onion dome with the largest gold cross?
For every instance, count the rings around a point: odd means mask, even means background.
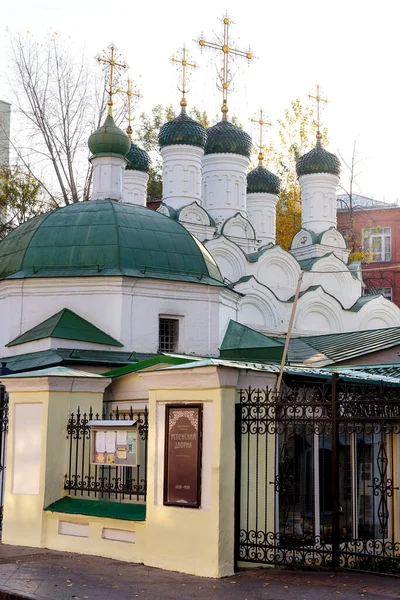
[[[239,154],[203,158],[203,206],[221,223],[240,212],[246,217],[246,172],[249,159]]]

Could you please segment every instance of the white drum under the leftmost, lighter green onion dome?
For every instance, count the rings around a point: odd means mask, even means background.
[[[118,200],[124,198],[124,175],[128,161],[118,156],[98,156],[90,160],[93,166],[91,200]]]

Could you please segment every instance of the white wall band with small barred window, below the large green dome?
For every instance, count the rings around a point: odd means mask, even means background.
[[[180,351],[218,354],[220,331],[236,318],[238,296],[217,286],[134,278],[8,280],[0,284],[0,356],[5,345],[63,308],[69,308],[123,344],[113,350],[158,351],[159,315],[181,317]],[[58,347],[63,347],[60,343]],[[86,345],[88,347],[89,345]],[[104,349],[104,347],[103,347]]]

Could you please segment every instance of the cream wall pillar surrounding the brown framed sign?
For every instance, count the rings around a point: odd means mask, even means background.
[[[193,381],[193,372],[191,377]],[[207,577],[233,573],[235,396],[236,387],[150,391],[145,564]],[[157,456],[157,438],[165,426],[157,424],[157,407],[190,402],[212,404],[212,420],[203,419],[203,437],[211,433],[210,464],[204,465],[203,452],[203,478],[210,477],[210,505],[199,509],[163,506],[155,498],[164,464],[163,456]]]

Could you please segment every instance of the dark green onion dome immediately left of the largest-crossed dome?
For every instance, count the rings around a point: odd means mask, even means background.
[[[207,133],[203,125],[188,117],[184,108],[176,119],[165,123],[158,133],[160,148],[181,144],[204,148],[206,140]]]

